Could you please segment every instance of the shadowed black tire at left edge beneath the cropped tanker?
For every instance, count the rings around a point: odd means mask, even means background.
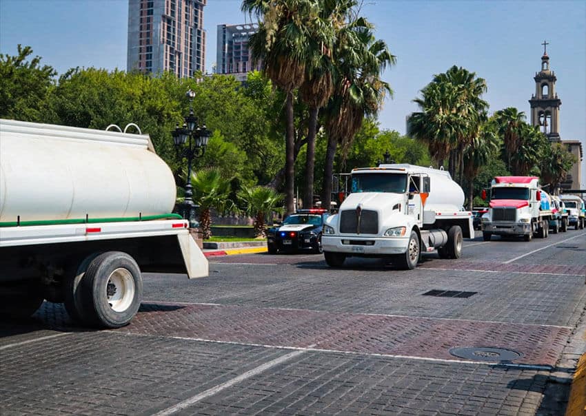
[[[43,304],[43,292],[37,282],[14,282],[0,286],[2,319],[26,320]]]

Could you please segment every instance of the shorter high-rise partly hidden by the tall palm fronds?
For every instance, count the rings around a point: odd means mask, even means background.
[[[242,25],[218,25],[216,48],[216,74],[233,74],[243,81],[246,73],[261,70],[261,62],[253,65],[248,48],[250,35],[259,30],[256,23]]]

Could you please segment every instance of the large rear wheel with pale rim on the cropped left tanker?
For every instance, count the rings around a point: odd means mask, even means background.
[[[122,251],[94,258],[81,279],[83,319],[88,324],[119,328],[139,311],[143,293],[137,262]]]

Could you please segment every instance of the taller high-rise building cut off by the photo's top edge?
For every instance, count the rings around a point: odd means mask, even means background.
[[[205,71],[203,7],[208,0],[129,0],[127,69]]]

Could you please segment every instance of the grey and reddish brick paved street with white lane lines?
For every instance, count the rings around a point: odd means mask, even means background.
[[[0,414],[560,415],[586,353],[585,253],[569,231],[476,238],[412,271],[258,253],[210,258],[203,279],[146,274],[121,329],[48,303],[0,324]],[[518,355],[450,353],[464,346]]]

